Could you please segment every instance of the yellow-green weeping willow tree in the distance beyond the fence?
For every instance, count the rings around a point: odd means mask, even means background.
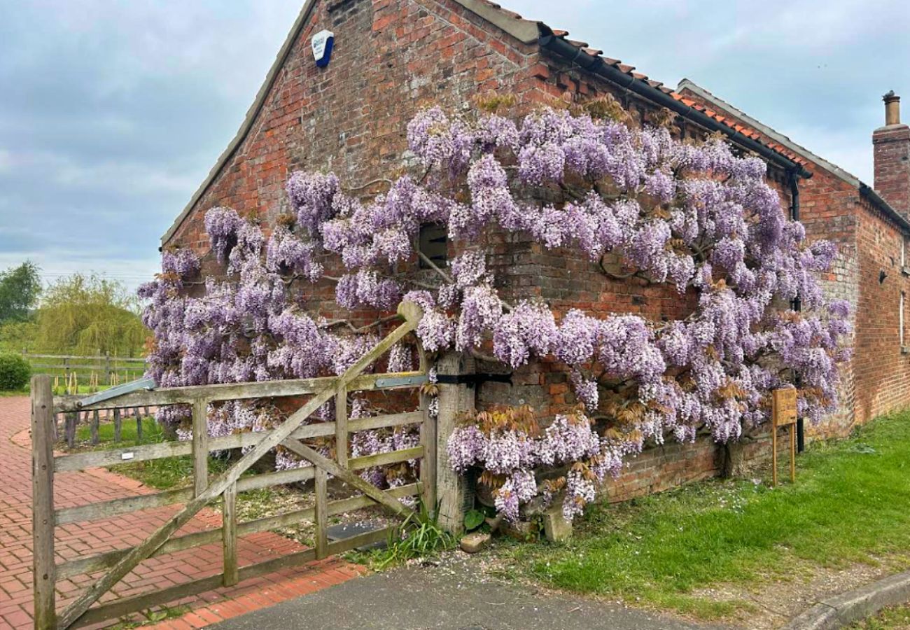
[[[138,300],[116,280],[75,273],[45,292],[36,345],[46,351],[137,356],[148,336]]]

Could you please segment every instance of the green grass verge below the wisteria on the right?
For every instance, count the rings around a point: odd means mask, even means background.
[[[798,466],[795,485],[777,489],[716,481],[594,505],[570,541],[504,544],[501,553],[510,574],[703,618],[749,605],[699,588],[759,588],[882,556],[910,565],[910,412],[814,444]]]

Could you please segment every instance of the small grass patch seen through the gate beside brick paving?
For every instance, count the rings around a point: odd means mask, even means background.
[[[86,424],[80,424],[76,429],[76,440],[86,444],[90,438],[90,430]],[[92,449],[111,449],[135,446],[137,444],[152,444],[167,442],[167,436],[160,425],[153,418],[144,418],[142,421],[142,440],[136,439],[136,419],[126,418],[123,421],[120,442],[114,442],[114,424],[102,422],[98,426],[99,444]],[[226,459],[218,457],[208,458],[208,473],[219,474],[227,470]],[[110,470],[136,479],[147,486],[158,490],[170,490],[189,485],[193,478],[193,458],[190,455],[179,457],[166,457],[159,460],[146,462],[119,463],[110,466]]]

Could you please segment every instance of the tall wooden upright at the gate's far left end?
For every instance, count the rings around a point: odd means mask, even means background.
[[[54,392],[46,374],[32,377],[32,543],[35,628],[56,628],[54,561]]]

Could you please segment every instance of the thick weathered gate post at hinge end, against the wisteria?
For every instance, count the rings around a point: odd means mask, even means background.
[[[464,529],[465,506],[470,502],[470,488],[459,473],[451,469],[446,443],[455,430],[459,417],[474,412],[474,388],[458,381],[459,376],[473,374],[474,359],[461,352],[446,352],[436,362],[440,376],[440,412],[436,422],[436,492],[440,502],[440,525],[451,533]]]

